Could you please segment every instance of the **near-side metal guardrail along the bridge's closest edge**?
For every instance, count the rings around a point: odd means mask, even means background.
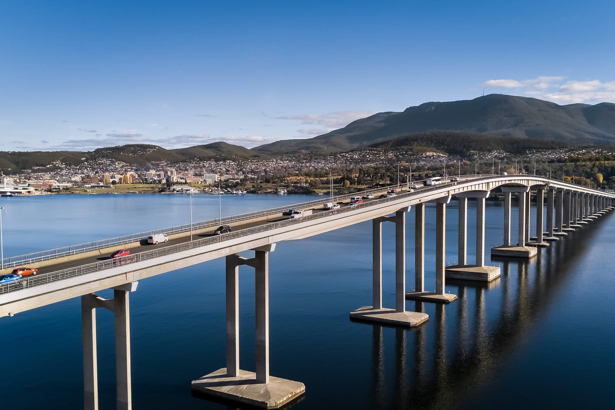
[[[513,178],[513,177],[514,178],[517,178],[517,177],[527,178],[528,177],[528,175],[508,175],[508,176],[510,178]],[[543,176],[531,175],[531,177],[532,178],[536,178],[536,179],[542,179],[542,180],[544,180],[547,183],[552,181],[552,179],[547,178],[547,177],[543,177]],[[476,182],[480,182],[480,181],[488,181],[491,178],[493,178],[493,175],[483,176],[483,177],[480,177],[480,178],[475,178],[475,179],[472,179],[472,182],[476,183]],[[464,181],[462,181],[462,182],[464,182]],[[460,182],[460,183],[462,183],[462,182]],[[557,180],[557,182],[560,183],[560,184],[569,185],[571,187],[574,187],[573,184],[563,183],[563,182],[561,182],[559,180]],[[313,221],[314,219],[325,218],[327,216],[337,215],[339,213],[346,213],[346,212],[349,212],[349,211],[352,211],[352,210],[356,210],[356,209],[360,209],[360,208],[373,207],[375,205],[381,205],[383,203],[391,202],[391,201],[394,201],[394,200],[398,200],[400,198],[407,198],[407,197],[411,197],[411,196],[417,195],[417,194],[424,194],[424,192],[431,192],[431,191],[437,191],[439,189],[446,189],[446,188],[454,187],[457,184],[459,184],[459,183],[458,182],[451,182],[451,183],[445,183],[445,184],[438,184],[438,185],[431,186],[431,187],[423,187],[423,188],[418,190],[419,192],[409,192],[409,191],[406,191],[406,192],[404,192],[402,194],[395,195],[394,197],[386,197],[386,198],[382,198],[382,199],[376,199],[376,200],[373,200],[373,201],[370,201],[370,202],[363,202],[363,203],[359,203],[359,204],[357,204],[357,205],[355,205],[353,207],[347,206],[347,207],[340,208],[338,210],[331,210],[331,211],[320,212],[320,213],[304,216],[302,218],[286,219],[285,221],[279,221],[279,222],[264,224],[264,225],[261,225],[261,226],[256,226],[256,227],[252,227],[252,228],[248,228],[248,229],[242,229],[241,231],[229,232],[228,234],[223,234],[223,235],[214,236],[214,237],[208,237],[208,238],[204,238],[204,239],[197,239],[197,240],[193,240],[192,242],[179,243],[178,245],[165,246],[164,248],[157,248],[157,249],[151,250],[151,251],[145,251],[145,252],[141,252],[141,253],[132,254],[132,255],[129,255],[129,256],[123,256],[122,258],[109,259],[108,261],[94,262],[92,264],[72,267],[72,268],[68,268],[68,269],[64,269],[64,270],[58,270],[57,272],[50,272],[49,274],[37,275],[37,276],[34,276],[34,277],[30,277],[30,278],[19,280],[18,282],[12,282],[12,283],[7,283],[7,284],[4,284],[4,285],[0,285],[0,294],[6,294],[6,293],[14,292],[14,291],[19,291],[19,290],[31,288],[33,286],[45,285],[47,283],[57,282],[59,280],[65,280],[65,279],[68,279],[68,278],[73,278],[73,277],[78,277],[78,276],[82,276],[82,275],[85,275],[85,274],[90,274],[92,272],[100,272],[101,270],[111,269],[113,267],[122,266],[124,264],[133,264],[133,263],[137,263],[137,262],[141,262],[141,261],[147,261],[149,259],[158,258],[159,256],[175,254],[175,253],[179,253],[179,252],[182,252],[182,251],[190,250],[190,249],[193,249],[193,248],[199,248],[200,246],[211,245],[212,243],[220,243],[220,242],[224,242],[226,240],[231,240],[231,239],[236,239],[236,238],[240,238],[240,237],[245,237],[245,236],[248,236],[248,235],[257,234],[259,232],[271,231],[272,229],[278,229],[278,228],[284,227],[284,226],[290,226],[290,225],[294,225],[294,224],[300,224],[300,223],[304,223],[304,222],[308,222],[308,221]],[[379,191],[383,191],[383,190],[380,189]],[[590,189],[590,191],[593,191],[593,190]],[[602,191],[598,191],[598,190],[595,190],[595,191],[596,192],[600,192],[601,194],[603,194]],[[365,192],[363,192],[363,193],[365,194]],[[346,196],[347,195],[341,195],[340,197],[346,197]],[[352,196],[352,195],[350,195],[350,196]],[[314,202],[322,203],[323,201],[322,200],[320,200],[320,201],[312,201],[312,203],[314,203]],[[288,207],[284,207],[284,209],[287,209],[287,208]]]

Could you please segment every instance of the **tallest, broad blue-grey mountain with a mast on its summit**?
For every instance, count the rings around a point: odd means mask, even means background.
[[[424,103],[402,112],[379,112],[308,140],[276,141],[252,150],[266,154],[348,151],[397,136],[438,130],[612,145],[615,104],[558,105],[490,94],[474,100]]]

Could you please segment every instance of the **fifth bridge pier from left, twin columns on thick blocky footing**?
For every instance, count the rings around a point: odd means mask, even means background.
[[[446,278],[491,282],[500,275],[498,266],[485,266],[485,198],[489,191],[466,191],[459,197],[459,262],[447,266]],[[476,264],[467,264],[467,199],[476,199]]]

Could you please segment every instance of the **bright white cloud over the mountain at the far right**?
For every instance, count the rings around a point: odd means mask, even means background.
[[[531,80],[489,80],[483,85],[489,87],[526,89],[524,95],[552,101],[558,104],[573,104],[585,102],[602,102],[615,100],[615,81],[566,81],[564,84],[555,84],[563,77],[541,76]],[[557,90],[555,90],[557,87]],[[547,92],[547,89],[552,89]]]

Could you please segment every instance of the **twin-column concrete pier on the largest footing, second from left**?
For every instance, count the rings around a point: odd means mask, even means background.
[[[193,380],[199,393],[261,408],[279,408],[305,392],[305,385],[269,376],[269,252],[275,243],[256,248],[254,258],[226,256],[226,368]],[[239,368],[239,266],[255,269],[256,372]]]

